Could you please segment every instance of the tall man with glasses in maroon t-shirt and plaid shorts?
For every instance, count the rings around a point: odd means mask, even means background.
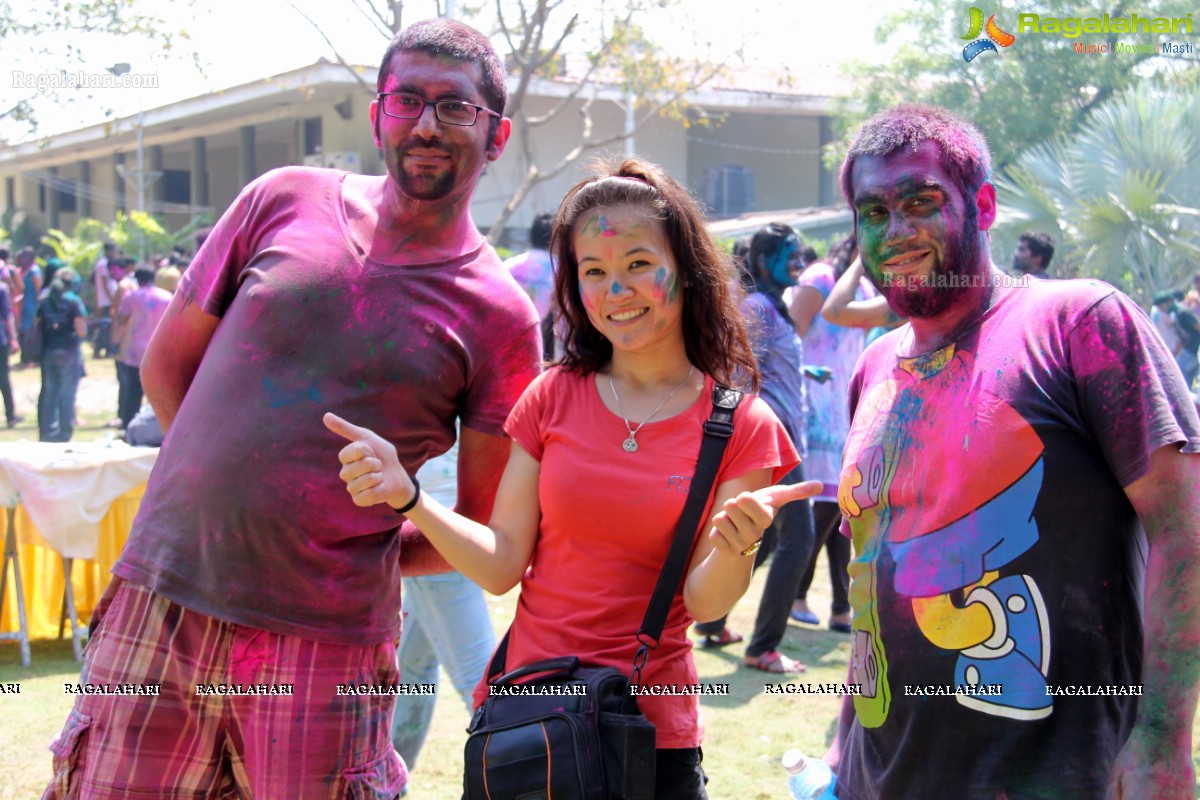
[[[413,473],[457,419],[457,507],[486,521],[540,341],[469,213],[510,131],[487,38],[418,23],[378,80],[386,174],[253,181],[157,327],[142,377],[167,437],[83,674],[161,692],[82,697],[47,798],[401,790],[401,570],[448,567],[391,509],[354,505],[322,414],[366,420]]]

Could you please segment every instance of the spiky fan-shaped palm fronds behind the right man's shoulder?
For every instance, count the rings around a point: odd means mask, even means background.
[[[1200,90],[1130,90],[1030,149],[996,186],[997,252],[1026,229],[1050,231],[1055,264],[1148,305],[1200,261]]]

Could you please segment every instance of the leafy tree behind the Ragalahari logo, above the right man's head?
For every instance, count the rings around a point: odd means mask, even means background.
[[[1168,35],[1020,32],[1018,13],[1040,17],[1110,18],[1183,17],[1193,12],[1188,0],[1142,0],[1110,5],[1079,0],[1027,2],[1002,0],[978,4],[986,17],[1016,41],[998,53],[983,53],[971,62],[962,58],[970,28],[970,4],[912,0],[907,11],[884,18],[876,29],[880,47],[890,58],[881,65],[851,67],[856,89],[836,108],[842,137],[872,114],[901,102],[944,106],[970,119],[988,137],[995,166],[1003,168],[1033,145],[1079,131],[1093,109],[1124,90],[1151,79],[1158,85],[1194,80],[1195,58],[1147,53],[1112,53],[1115,42],[1156,44]],[[1181,36],[1177,41],[1189,41]],[[1108,42],[1108,55],[1075,53],[1073,46]],[[828,154],[830,166],[841,163],[845,144]]]

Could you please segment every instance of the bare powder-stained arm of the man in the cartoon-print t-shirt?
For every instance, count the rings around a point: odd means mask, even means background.
[[[1146,529],[1145,648],[1138,720],[1114,768],[1117,800],[1192,800],[1192,720],[1200,697],[1200,455],[1151,455],[1126,487]]]

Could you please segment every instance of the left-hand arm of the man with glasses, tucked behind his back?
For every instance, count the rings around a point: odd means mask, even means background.
[[[142,386],[166,432],[221,321],[175,293],[142,360]]]

